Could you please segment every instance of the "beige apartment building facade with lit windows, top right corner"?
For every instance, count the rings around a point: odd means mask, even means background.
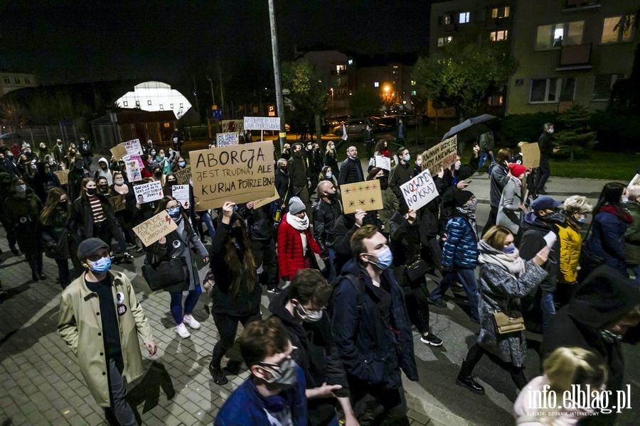
[[[629,77],[638,36],[619,29],[636,0],[518,0],[511,53],[520,66],[508,83],[507,114],[604,109],[614,83]]]

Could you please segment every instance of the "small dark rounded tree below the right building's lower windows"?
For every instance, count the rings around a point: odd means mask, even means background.
[[[554,141],[560,155],[569,154],[569,162],[573,163],[574,153],[591,148],[596,132],[589,126],[591,111],[581,105],[574,105],[558,116],[558,124],[562,130],[555,133]]]

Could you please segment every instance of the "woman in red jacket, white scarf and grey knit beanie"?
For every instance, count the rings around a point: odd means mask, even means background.
[[[300,269],[319,269],[314,255],[321,256],[322,250],[311,233],[305,209],[299,197],[292,197],[289,212],[278,227],[278,266],[284,281],[291,280]]]

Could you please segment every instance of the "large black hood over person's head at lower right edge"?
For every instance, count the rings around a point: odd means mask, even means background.
[[[638,305],[640,292],[635,281],[605,265],[582,282],[569,302],[569,315],[577,322],[601,328]]]

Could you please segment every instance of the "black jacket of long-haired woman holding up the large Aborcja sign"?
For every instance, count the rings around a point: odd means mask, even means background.
[[[240,293],[235,297],[230,293],[233,276],[229,266],[225,263],[230,232],[231,225],[220,222],[211,240],[209,265],[215,275],[215,285],[211,295],[213,299],[211,312],[225,315],[254,315],[260,312],[260,295],[262,295],[260,283],[257,282],[257,279],[252,292]],[[236,255],[240,257],[240,260],[242,260],[246,250],[250,250],[250,248],[242,247],[238,244]]]

